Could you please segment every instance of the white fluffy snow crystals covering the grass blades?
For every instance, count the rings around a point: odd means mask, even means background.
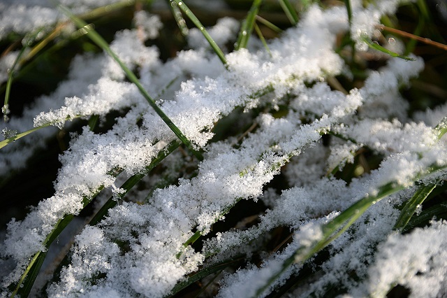
[[[111,2],[64,1],[76,12]],[[362,37],[371,36],[381,15],[394,13],[400,1],[381,0],[365,8],[360,2],[352,1],[351,36],[362,51]],[[45,1],[5,2],[0,8],[0,38],[64,20]],[[141,10],[134,24],[135,29],[118,31],[110,47],[205,158],[198,162],[174,152],[163,161],[163,173],[143,178],[147,189],[135,187],[120,200],[126,191],[122,182],[146,173],[165,146],[176,140],[175,134],[110,57],[75,57],[66,81],[0,128],[60,129],[76,118],[123,113],[107,132],[96,134],[84,127],[73,134],[68,150],[59,157],[53,196],[41,200],[23,220],[8,224],[0,251],[2,262],[13,260],[15,268],[8,265],[1,271],[3,295],[10,294],[6,288],[20,279],[29,259],[46,250],[45,239],[58,220],[78,215],[85,199],[102,188],[108,192],[100,194],[100,202],[111,194],[119,204],[98,225],[87,225],[75,236],[71,264],[61,270],[61,281],[47,288],[50,297],[165,297],[202,266],[256,253],[269,232],[285,227],[293,234],[285,248],[271,255],[259,253],[259,264],[247,261],[219,281],[218,297],[251,297],[279,274],[262,291],[265,297],[300,271],[300,264],[284,268],[286,260],[302,262],[298,252],[312,251],[324,239],[325,224],[359,199],[374,197],[384,185],[405,190],[374,202],[347,233],[334,239],[328,259],[319,265],[320,277],[291,292],[291,297],[323,297],[334,284],[346,290],[346,297],[383,297],[395,283],[409,288],[413,297],[445,295],[446,223],[432,221],[430,227],[410,234],[393,232],[400,212],[395,206],[416,192],[416,181],[433,183],[445,177],[445,171],[436,170],[447,166],[446,143],[433,129],[445,116],[446,106],[411,118],[399,92],[423,70],[422,59],[390,58],[386,66],[367,73],[364,85],[344,94],[332,90],[327,80],[346,72],[335,52],[337,34],[349,31],[344,7],[310,6],[296,27],[269,41],[272,55],[265,50],[224,49],[226,66],[212,55],[198,29],[189,31],[189,48],[162,62],[159,50],[145,45],[163,26],[159,17]],[[237,36],[238,27],[236,20],[226,17],[209,32],[223,46]],[[8,68],[14,55],[3,57],[0,68]],[[287,106],[287,113],[278,115],[280,106]],[[230,118],[231,125],[256,123],[255,128],[240,138],[212,141],[216,123],[239,110]],[[258,111],[256,118],[252,111]],[[24,166],[54,134],[54,127],[2,148],[0,174]],[[323,144],[328,132],[342,138],[331,136],[330,143]],[[332,176],[334,169],[342,171],[346,163],[353,163],[362,148],[381,157],[377,169],[349,182]],[[195,170],[185,173],[191,165]],[[266,189],[278,175],[286,185],[281,193]],[[184,246],[194,232],[210,233],[240,200],[262,200],[268,207],[256,225],[219,232],[204,241],[201,250]]]

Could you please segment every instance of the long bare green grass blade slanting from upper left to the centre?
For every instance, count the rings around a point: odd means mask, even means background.
[[[87,31],[87,36],[89,36],[91,41],[93,41],[94,43],[96,43],[96,45],[102,48],[104,52],[107,52],[108,55],[110,55],[110,57],[112,57],[119,64],[124,73],[126,73],[127,78],[129,78],[129,80],[138,87],[138,90],[140,91],[142,96],[145,97],[149,105],[152,106],[152,108],[154,108],[154,111],[160,116],[161,120],[163,120],[163,122],[165,122],[166,125],[168,125],[168,127],[174,132],[174,134],[182,141],[182,143],[186,145],[186,147],[189,148],[189,150],[191,150],[191,152],[194,153],[194,155],[196,155],[198,159],[202,160],[203,159],[202,155],[199,152],[196,152],[196,150],[192,148],[189,139],[187,139],[186,136],[184,136],[184,134],[180,131],[180,129],[172,122],[172,120],[168,118],[168,115],[166,115],[161,110],[161,108],[157,106],[154,99],[152,99],[152,97],[150,97],[149,93],[147,93],[145,88],[142,87],[140,80],[138,80],[138,78],[135,76],[135,73],[133,73],[121,61],[121,59],[119,59],[119,57],[115,54],[115,52],[113,52],[112,49],[110,49],[108,43],[96,31],[94,31],[94,29],[92,29],[91,26],[89,26],[86,22],[84,22],[80,18],[73,15],[73,13],[71,13],[71,11],[68,10],[68,8],[62,5],[59,5],[59,8],[66,15],[68,15],[68,17],[71,18],[71,20],[76,24],[76,26],[78,26],[79,28],[84,28]]]

